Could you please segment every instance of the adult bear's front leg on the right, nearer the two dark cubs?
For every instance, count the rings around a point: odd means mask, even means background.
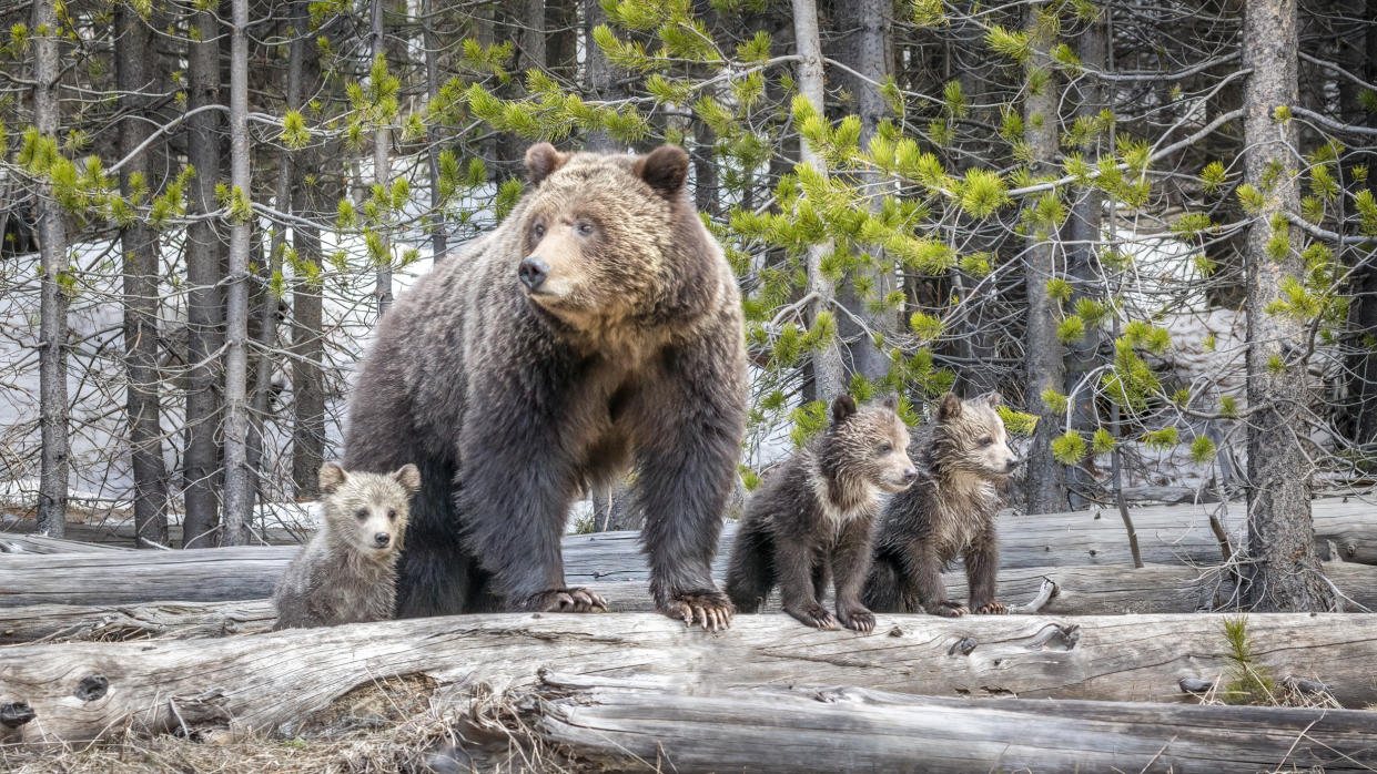
[[[735,613],[712,580],[712,558],[745,432],[744,364],[723,351],[739,347],[741,332],[719,336],[665,353],[661,380],[631,409],[650,594],[665,616],[709,631]]]

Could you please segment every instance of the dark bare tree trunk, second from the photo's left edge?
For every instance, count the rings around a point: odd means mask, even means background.
[[[142,178],[147,191],[158,185],[149,171],[149,151],[131,154],[150,134],[146,118],[151,110],[147,98],[149,28],[134,6],[116,7],[116,70],[120,87],[120,190],[134,196],[135,178]],[[157,233],[142,218],[121,229],[124,251],[124,350],[125,406],[129,424],[129,450],[134,468],[134,529],[140,548],[168,545],[168,482],[162,463],[161,409],[158,402],[158,241]]]

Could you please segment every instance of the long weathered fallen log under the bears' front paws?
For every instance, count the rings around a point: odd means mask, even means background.
[[[658,675],[687,686],[850,684],[912,694],[1188,701],[1183,680],[1227,668],[1224,616],[879,616],[876,634],[821,632],[782,614],[708,634],[655,614],[457,616],[213,640],[0,649],[0,708],[36,719],[10,741],[275,729],[384,678],[441,698],[482,682]],[[1377,701],[1377,616],[1249,617],[1257,664],[1318,682],[1344,705]],[[1195,684],[1195,683],[1190,683]],[[457,693],[456,693],[457,691]],[[0,740],[4,741],[4,740]]]

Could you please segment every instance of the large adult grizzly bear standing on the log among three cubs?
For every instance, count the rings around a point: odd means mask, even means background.
[[[735,278],[688,157],[526,153],[532,189],[379,324],[346,466],[420,467],[399,617],[606,607],[565,584],[569,505],[635,466],[657,607],[726,627],[711,562],[745,430]]]

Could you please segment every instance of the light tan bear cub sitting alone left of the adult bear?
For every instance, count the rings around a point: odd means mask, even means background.
[[[273,591],[274,629],[333,627],[392,617],[397,558],[402,554],[416,466],[392,474],[319,472],[324,519]]]

